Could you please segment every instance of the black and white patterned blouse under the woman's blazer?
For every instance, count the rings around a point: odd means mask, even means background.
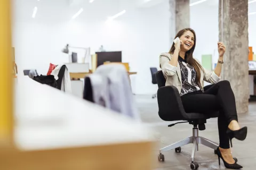
[[[186,59],[186,58],[185,58]],[[196,83],[196,71],[186,60],[179,56],[179,65],[181,72],[182,88],[180,96],[201,90]]]

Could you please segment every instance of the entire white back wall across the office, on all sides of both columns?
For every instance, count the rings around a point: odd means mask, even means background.
[[[122,50],[123,62],[129,62],[131,71],[138,72],[132,77],[136,94],[154,94],[157,87],[151,84],[149,67],[158,67],[159,54],[170,49],[169,1],[157,0],[153,6],[140,8],[134,1],[96,0],[92,4],[69,6],[68,1],[63,0],[14,0],[13,46],[19,73],[35,68],[45,74],[50,62],[67,62],[68,57],[61,53],[67,43],[91,47],[92,52],[103,45],[109,51]],[[197,34],[194,56],[199,60],[202,54],[213,55],[219,40],[218,3],[207,2],[190,8],[190,25]],[[32,19],[34,6],[38,7],[38,12]],[[71,20],[81,7],[84,12]],[[253,12],[255,7],[250,6],[249,11]],[[126,10],[124,15],[113,23],[106,23],[107,16],[122,10]],[[249,45],[254,47],[254,52],[255,18],[256,15],[249,16]],[[215,51],[213,62],[217,60]]]

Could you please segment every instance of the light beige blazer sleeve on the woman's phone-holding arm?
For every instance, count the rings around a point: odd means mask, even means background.
[[[176,74],[177,67],[169,64],[170,58],[165,55],[160,56],[160,67],[163,71],[163,74],[166,77],[172,77]]]

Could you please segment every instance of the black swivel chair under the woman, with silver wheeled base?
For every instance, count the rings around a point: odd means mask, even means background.
[[[156,80],[158,84],[157,90],[157,100],[158,100],[158,108],[159,117],[164,121],[186,121],[186,122],[178,122],[178,123],[189,123],[194,126],[193,135],[172,145],[164,147],[160,149],[160,154],[158,155],[159,161],[164,161],[164,155],[162,152],[169,151],[175,149],[175,152],[181,152],[181,146],[187,145],[189,143],[193,143],[193,150],[191,154],[191,169],[197,169],[199,167],[198,163],[194,162],[194,156],[196,150],[198,151],[198,144],[205,145],[214,149],[214,154],[216,154],[216,149],[219,144],[213,142],[211,140],[205,139],[203,137],[199,137],[198,129],[203,131],[205,130],[205,123],[208,118],[218,117],[219,112],[209,112],[207,114],[200,113],[186,113],[182,101],[180,98],[179,91],[174,86],[165,86],[165,78],[162,71],[158,71],[156,73]],[[175,124],[170,124],[168,127],[171,127]]]

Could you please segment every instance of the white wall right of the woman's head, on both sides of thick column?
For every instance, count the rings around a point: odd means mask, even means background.
[[[194,57],[198,58],[199,60],[201,60],[202,54],[212,54],[213,63],[218,60],[218,12],[218,2],[213,2],[213,0],[190,7],[190,27],[196,31],[197,35],[197,45]],[[250,12],[256,12],[256,3],[249,4],[249,13]],[[249,46],[252,46],[254,53],[256,53],[256,14],[249,15],[248,18]]]

